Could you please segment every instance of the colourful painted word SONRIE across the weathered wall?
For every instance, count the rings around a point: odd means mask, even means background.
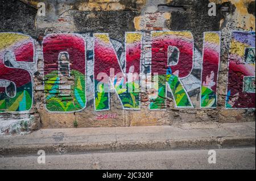
[[[193,108],[183,79],[194,68],[189,31],[152,31],[147,74],[152,84],[150,110],[164,110],[167,89],[176,108]],[[94,33],[92,45],[77,33],[48,34],[42,42],[46,110],[75,112],[86,107],[86,61],[93,60],[94,109],[110,110],[110,92],[123,109],[140,110],[143,85],[143,33],[126,32],[124,64],[108,33]],[[88,50],[91,47],[92,50]],[[217,107],[221,32],[205,32],[201,60],[200,108]],[[90,54],[89,54],[89,53]],[[0,112],[29,111],[32,72],[37,69],[35,40],[22,33],[0,32]],[[233,31],[228,56],[225,108],[255,108],[255,32]],[[65,82],[65,83],[63,83]]]

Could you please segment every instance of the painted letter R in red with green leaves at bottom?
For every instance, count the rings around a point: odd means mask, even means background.
[[[193,108],[191,99],[180,79],[188,77],[193,69],[193,36],[187,31],[152,31],[151,75],[158,81],[154,87],[157,95],[152,98],[150,110],[166,108],[167,85],[171,89],[175,107]],[[168,50],[176,48],[179,60],[175,65],[168,62]],[[154,84],[155,85],[155,84]]]

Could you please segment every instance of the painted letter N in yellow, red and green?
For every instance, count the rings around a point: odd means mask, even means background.
[[[109,35],[94,33],[93,36],[95,110],[110,109],[110,91],[113,89],[121,100],[123,109],[140,109],[141,33],[126,32],[125,34],[125,72],[118,61]]]

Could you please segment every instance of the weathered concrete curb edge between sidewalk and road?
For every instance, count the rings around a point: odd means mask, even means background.
[[[150,140],[94,143],[64,143],[64,144],[32,144],[15,145],[0,148],[0,155],[37,155],[38,150],[46,154],[77,154],[102,153],[121,151],[154,151],[154,150],[189,150],[189,149],[221,149],[255,146],[255,137],[204,137],[179,140]]]

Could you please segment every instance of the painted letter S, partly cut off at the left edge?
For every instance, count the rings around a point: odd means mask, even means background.
[[[28,111],[33,86],[34,40],[19,33],[0,33],[0,112]]]

